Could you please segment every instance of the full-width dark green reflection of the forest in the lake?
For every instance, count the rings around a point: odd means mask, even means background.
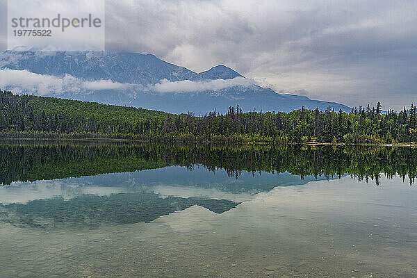
[[[306,176],[373,179],[380,173],[409,177],[417,174],[417,149],[387,147],[301,147],[300,145],[243,145],[209,147],[168,144],[126,144],[99,142],[12,142],[0,144],[0,184],[12,181],[63,179],[112,172],[133,172],[168,165],[193,169],[204,165],[224,169],[238,178],[242,171],[255,174],[289,172]]]

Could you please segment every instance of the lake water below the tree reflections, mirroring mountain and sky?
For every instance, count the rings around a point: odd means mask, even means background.
[[[417,277],[417,191],[202,165],[0,188],[0,277]]]

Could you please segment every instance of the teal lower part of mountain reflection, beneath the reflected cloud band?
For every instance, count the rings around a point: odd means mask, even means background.
[[[213,213],[224,213],[238,205],[225,199],[165,197],[154,193],[118,193],[108,196],[81,195],[39,199],[26,204],[0,205],[0,221],[13,225],[42,228],[99,227],[103,223],[151,222],[174,211],[202,206]]]

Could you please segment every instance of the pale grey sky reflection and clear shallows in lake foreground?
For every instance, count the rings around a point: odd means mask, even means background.
[[[222,214],[194,205],[79,231],[3,223],[0,277],[415,277],[416,190],[382,183],[311,181]]]

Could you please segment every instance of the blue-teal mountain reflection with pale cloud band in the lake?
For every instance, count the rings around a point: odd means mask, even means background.
[[[313,180],[283,173],[244,172],[239,179],[204,167],[165,167],[132,173],[52,181],[13,182],[0,188],[0,220],[19,227],[85,228],[101,224],[151,222],[163,215],[202,206],[224,213],[256,193]]]

